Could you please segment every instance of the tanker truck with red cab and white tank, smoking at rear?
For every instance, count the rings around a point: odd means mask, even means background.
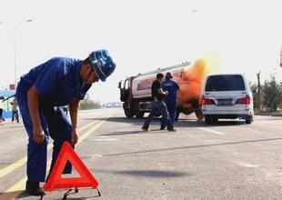
[[[200,94],[204,79],[203,66],[190,66],[190,62],[187,61],[180,65],[158,68],[152,72],[129,76],[120,81],[118,88],[120,89],[120,100],[124,103],[123,108],[126,117],[143,118],[145,113],[150,112],[150,103],[153,100],[151,85],[156,80],[157,73],[166,75],[168,71],[174,74],[174,79],[181,86],[181,91],[177,92],[176,121],[180,113],[185,115],[195,113],[199,120],[203,119],[200,109]],[[159,115],[156,114],[156,116]]]

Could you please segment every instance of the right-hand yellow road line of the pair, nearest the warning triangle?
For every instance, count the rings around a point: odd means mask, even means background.
[[[91,135],[100,125],[104,124],[106,122],[106,119],[109,118],[110,116],[111,115],[109,115],[107,117],[103,117],[104,120],[99,121],[94,127],[92,127],[90,130],[88,130],[84,135],[79,136],[79,139],[78,139],[76,146],[79,145],[82,141],[84,141],[89,135]],[[48,168],[47,168],[46,171],[48,171],[50,169],[50,165],[51,165],[51,159],[48,160]],[[15,192],[15,191],[24,190],[26,179],[27,179],[27,177],[25,176],[22,180],[20,180],[19,182],[15,183],[15,185],[13,185],[9,189],[7,189],[5,191],[5,193],[11,193],[11,192]]]

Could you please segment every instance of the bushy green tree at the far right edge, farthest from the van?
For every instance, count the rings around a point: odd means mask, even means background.
[[[263,87],[263,105],[270,111],[277,111],[282,104],[282,85],[277,83],[275,75],[266,80]]]

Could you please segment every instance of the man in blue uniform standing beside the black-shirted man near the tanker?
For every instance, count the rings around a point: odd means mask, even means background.
[[[176,119],[176,104],[177,104],[177,90],[180,90],[180,86],[173,79],[172,72],[166,73],[166,81],[162,83],[164,91],[168,92],[168,95],[165,97],[165,103],[167,106],[167,111],[170,116],[172,124],[175,124]],[[166,128],[166,123],[161,121],[161,130]]]

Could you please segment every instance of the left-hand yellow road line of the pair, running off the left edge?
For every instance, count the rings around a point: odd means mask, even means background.
[[[82,132],[83,130],[85,130],[87,127],[91,126],[91,125],[94,125],[96,123],[98,123],[99,121],[94,121],[88,125],[85,125],[84,127],[80,128],[78,130],[78,133],[79,132]],[[47,150],[50,150],[51,148],[53,148],[53,145],[52,144],[49,144],[47,146]],[[4,168],[0,169],[0,178],[2,178],[3,176],[5,175],[8,175],[10,174],[11,172],[15,171],[15,169],[21,167],[22,165],[25,165],[26,164],[26,161],[27,161],[27,156],[23,157],[22,159],[19,159],[17,161],[15,161],[15,163],[13,164],[10,164],[10,165],[7,165],[5,166]]]

